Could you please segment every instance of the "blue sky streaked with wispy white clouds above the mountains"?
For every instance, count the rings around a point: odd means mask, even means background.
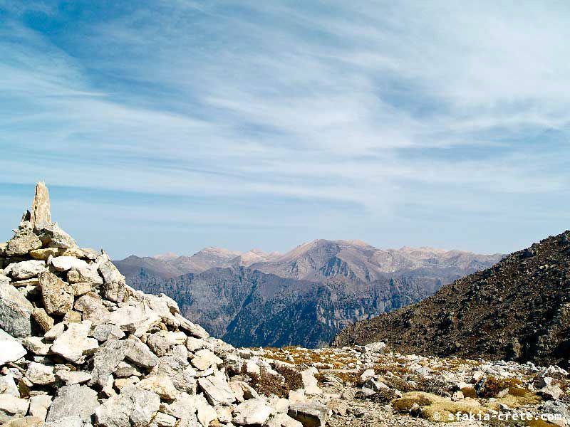
[[[570,228],[566,1],[0,0],[0,241],[113,258]]]

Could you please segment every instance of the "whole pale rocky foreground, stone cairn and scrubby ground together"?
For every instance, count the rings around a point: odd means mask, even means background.
[[[558,367],[404,356],[383,343],[237,349],[51,222],[47,189],[0,245],[0,423],[26,427],[547,426]],[[513,414],[532,421],[502,421]],[[525,415],[526,416],[526,415]],[[546,415],[544,415],[546,416]]]

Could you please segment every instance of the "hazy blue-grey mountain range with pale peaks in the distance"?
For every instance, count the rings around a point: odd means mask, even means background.
[[[184,315],[227,342],[318,347],[357,320],[423,300],[501,258],[316,240],[285,254],[204,248],[114,263],[134,288],[173,297]]]

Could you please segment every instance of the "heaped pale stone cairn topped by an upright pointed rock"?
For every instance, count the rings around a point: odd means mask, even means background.
[[[326,422],[330,411],[305,397],[321,393],[314,371],[235,349],[170,297],[130,288],[104,251],[51,221],[43,183],[14,233],[0,244],[2,426]]]

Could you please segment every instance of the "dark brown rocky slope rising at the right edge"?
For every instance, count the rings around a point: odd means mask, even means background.
[[[434,296],[347,327],[334,344],[568,364],[570,231],[512,253]]]

